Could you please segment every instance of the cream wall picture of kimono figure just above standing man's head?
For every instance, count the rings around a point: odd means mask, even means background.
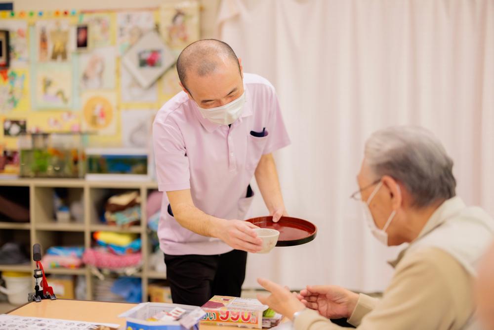
[[[168,2],[160,8],[161,34],[167,45],[173,49],[183,49],[199,40],[199,2]]]

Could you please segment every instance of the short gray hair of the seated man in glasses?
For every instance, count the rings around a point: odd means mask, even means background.
[[[412,195],[414,207],[425,207],[455,196],[453,160],[428,130],[394,126],[374,132],[365,158],[376,179],[388,175]]]

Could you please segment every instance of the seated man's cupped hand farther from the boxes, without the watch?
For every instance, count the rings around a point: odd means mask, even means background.
[[[324,317],[339,319],[352,315],[359,295],[336,285],[307,285],[298,299]]]

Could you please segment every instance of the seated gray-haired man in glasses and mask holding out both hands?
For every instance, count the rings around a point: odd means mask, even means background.
[[[295,330],[340,328],[329,318],[348,318],[358,329],[474,327],[476,261],[493,238],[494,222],[455,196],[452,168],[444,147],[425,129],[372,134],[354,197],[380,242],[410,243],[392,263],[395,273],[382,299],[333,285],[307,286],[296,296],[259,279],[271,291],[259,300],[291,319]]]

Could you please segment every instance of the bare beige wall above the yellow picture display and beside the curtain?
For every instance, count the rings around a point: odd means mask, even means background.
[[[15,10],[122,9],[157,7],[174,0],[13,0]],[[201,38],[215,38],[220,0],[200,0]]]

